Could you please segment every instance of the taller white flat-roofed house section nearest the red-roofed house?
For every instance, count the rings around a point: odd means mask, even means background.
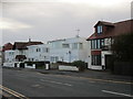
[[[63,40],[49,41],[50,62],[68,62],[74,61],[88,62],[88,42],[84,37],[71,37]]]

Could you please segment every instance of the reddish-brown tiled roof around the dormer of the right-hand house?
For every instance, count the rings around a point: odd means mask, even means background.
[[[100,23],[100,21],[98,23]],[[105,22],[103,23],[106,24]],[[91,36],[89,36],[86,41],[94,40],[94,38],[112,37],[112,36],[116,36],[120,34],[131,33],[133,32],[132,24],[133,24],[133,20],[126,20],[126,21],[113,23],[113,28],[110,31],[105,31],[105,33],[103,34],[98,34],[95,32]]]

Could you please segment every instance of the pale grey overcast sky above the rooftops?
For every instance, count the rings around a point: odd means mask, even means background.
[[[132,0],[2,0],[0,44],[81,37],[94,33],[98,21],[131,19]]]

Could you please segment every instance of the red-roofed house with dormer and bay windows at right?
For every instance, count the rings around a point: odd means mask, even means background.
[[[133,20],[116,23],[99,21],[94,25],[94,33],[86,40],[91,43],[90,64],[91,69],[108,69],[111,62],[111,45],[113,37],[133,32]]]

